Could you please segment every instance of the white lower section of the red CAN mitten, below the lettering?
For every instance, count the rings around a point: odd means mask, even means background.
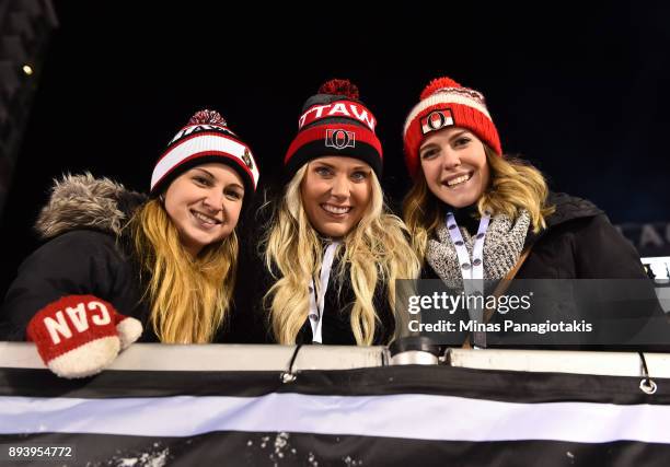
[[[109,365],[119,350],[118,337],[101,337],[49,360],[47,366],[61,377],[91,376]]]

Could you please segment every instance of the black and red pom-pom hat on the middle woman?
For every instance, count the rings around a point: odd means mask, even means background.
[[[382,172],[382,147],[374,135],[377,120],[359,100],[358,87],[348,80],[331,80],[307,100],[298,120],[298,135],[284,165],[292,176],[307,162],[339,155],[367,162],[378,177]]]

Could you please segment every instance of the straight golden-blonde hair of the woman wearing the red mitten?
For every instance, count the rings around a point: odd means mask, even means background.
[[[127,224],[150,323],[163,343],[207,343],[230,311],[238,258],[235,232],[193,258],[163,205],[151,199]]]

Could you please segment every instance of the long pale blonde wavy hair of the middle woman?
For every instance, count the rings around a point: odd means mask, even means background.
[[[308,284],[321,269],[322,241],[312,227],[302,205],[300,185],[308,164],[296,173],[286,191],[266,236],[263,238],[265,266],[277,281],[265,294],[269,320],[279,343],[290,345],[296,338],[309,311]],[[370,205],[357,226],[343,238],[337,278],[342,281],[345,265],[356,300],[350,324],[358,345],[371,345],[380,317],[373,306],[378,281],[386,284],[386,299],[393,310],[395,280],[414,279],[419,261],[409,246],[403,221],[384,205],[381,185],[371,173]],[[342,282],[340,282],[342,283]]]

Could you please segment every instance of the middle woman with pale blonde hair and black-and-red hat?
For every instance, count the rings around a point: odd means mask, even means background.
[[[285,157],[289,182],[263,242],[273,340],[388,343],[395,280],[416,277],[419,265],[384,206],[377,120],[354,84],[332,80],[298,125]]]

